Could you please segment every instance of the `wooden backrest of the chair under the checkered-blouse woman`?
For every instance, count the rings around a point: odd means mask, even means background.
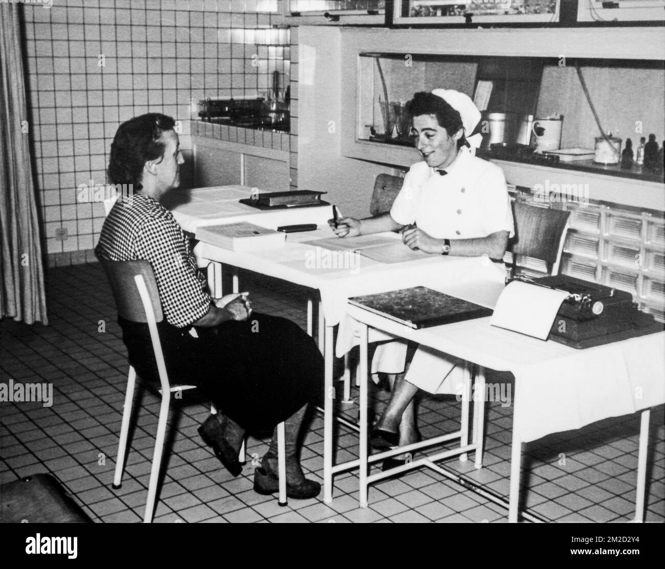
[[[155,322],[162,322],[162,302],[160,293],[149,261],[107,261],[99,259],[116,299],[118,314],[130,322],[148,322],[146,307],[141,298],[136,277],[142,277],[143,283],[152,304]]]

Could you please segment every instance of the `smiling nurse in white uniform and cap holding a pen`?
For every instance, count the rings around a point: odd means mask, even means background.
[[[465,94],[444,89],[416,93],[408,106],[422,162],[410,168],[390,213],[345,217],[338,220],[335,233],[353,237],[403,229],[402,239],[411,249],[431,255],[485,256],[502,267],[513,236],[513,215],[503,171],[475,158],[479,134],[465,136],[476,128],[479,110]],[[392,352],[394,360],[396,353],[406,354],[405,344],[398,345],[386,344],[379,352]],[[387,449],[415,442],[414,395],[418,388],[454,392],[448,384],[456,381],[455,369],[454,360],[418,348],[406,380],[400,378],[392,386],[390,401],[372,430],[372,446]],[[379,370],[384,371],[381,364]]]

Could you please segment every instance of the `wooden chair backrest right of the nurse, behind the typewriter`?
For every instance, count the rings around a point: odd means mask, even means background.
[[[515,237],[511,239],[512,275],[520,264],[519,256],[540,259],[545,262],[550,275],[559,273],[569,215],[570,211],[513,202]]]

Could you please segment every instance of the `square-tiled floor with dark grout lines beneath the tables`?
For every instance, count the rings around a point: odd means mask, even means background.
[[[305,325],[305,291],[247,275],[255,310],[289,316]],[[126,386],[126,352],[101,267],[96,264],[49,269],[51,324],[26,326],[3,320],[0,381],[52,382],[53,406],[0,403],[0,481],[39,472],[53,474],[96,522],[138,522],[146,501],[158,398],[145,392],[122,489],[110,484]],[[510,382],[505,374],[488,382]],[[357,396],[357,394],[355,394]],[[384,391],[374,390],[377,399]],[[252,489],[253,466],[267,449],[249,440],[243,474],[231,477],[203,445],[196,429],[207,415],[194,392],[183,396],[172,450],[165,459],[156,522],[505,522],[507,511],[446,477],[420,469],[370,489],[368,509],[358,508],[355,474],[335,479],[334,500],[289,501]],[[424,397],[419,427],[428,437],[456,428],[454,398]],[[358,408],[346,414],[356,419]],[[172,421],[173,422],[173,421]],[[507,497],[512,407],[488,403],[483,469],[454,459],[446,465]],[[634,513],[638,415],[608,419],[579,431],[550,435],[525,445],[523,507],[547,520],[606,522]],[[665,520],[665,428],[663,407],[652,412],[646,520]],[[339,427],[338,459],[357,455],[357,437]],[[416,455],[417,456],[417,455]],[[323,473],[323,419],[313,415],[302,453],[310,477]]]

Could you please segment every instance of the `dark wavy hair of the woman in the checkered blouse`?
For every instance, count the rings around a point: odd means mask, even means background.
[[[170,116],[158,112],[149,112],[123,122],[111,144],[106,171],[108,183],[131,183],[134,191],[141,189],[144,165],[164,156],[166,142],[163,134],[175,126],[176,122]]]

